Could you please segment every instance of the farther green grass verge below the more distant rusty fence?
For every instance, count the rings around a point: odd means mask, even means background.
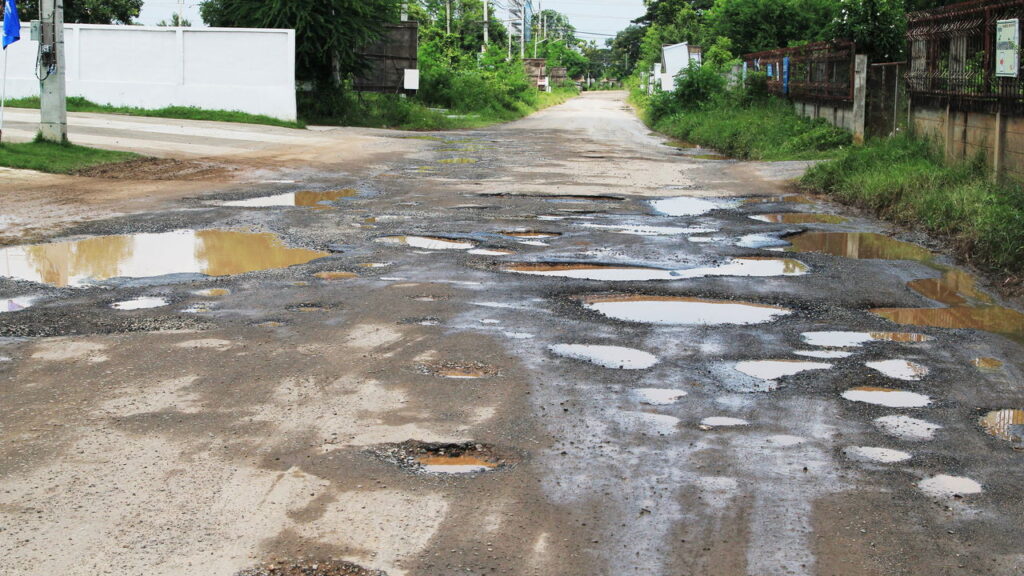
[[[835,157],[852,142],[846,130],[800,117],[793,107],[774,99],[744,105],[722,98],[653,122],[645,116],[659,132],[740,159],[819,160]]]

